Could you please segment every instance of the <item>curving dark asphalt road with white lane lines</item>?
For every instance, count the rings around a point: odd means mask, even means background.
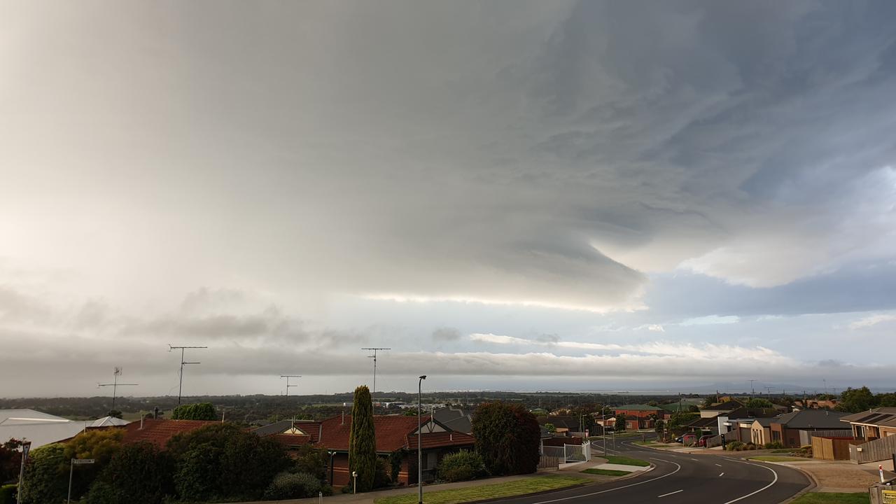
[[[593,454],[603,453],[599,441]],[[501,500],[504,504],[778,504],[809,486],[806,476],[784,465],[762,464],[736,456],[677,454],[633,444],[608,443],[610,455],[649,460],[652,471],[618,482],[586,485],[543,495]]]

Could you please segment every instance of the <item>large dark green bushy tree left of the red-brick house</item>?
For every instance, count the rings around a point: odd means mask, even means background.
[[[232,423],[214,423],[168,441],[180,500],[258,500],[289,466],[283,446]]]

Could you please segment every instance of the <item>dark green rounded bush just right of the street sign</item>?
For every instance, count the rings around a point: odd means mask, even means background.
[[[87,504],[160,504],[174,492],[173,472],[171,458],[154,445],[126,445],[90,485]]]

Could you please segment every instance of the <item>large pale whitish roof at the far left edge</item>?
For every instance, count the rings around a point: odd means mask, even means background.
[[[71,439],[86,428],[87,422],[34,410],[0,410],[0,443],[10,439],[28,440],[34,449]]]

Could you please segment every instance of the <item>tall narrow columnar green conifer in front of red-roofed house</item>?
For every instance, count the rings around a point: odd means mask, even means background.
[[[355,389],[355,402],[351,407],[349,474],[351,472],[358,472],[358,491],[373,490],[376,475],[376,432],[374,404],[366,385]]]

